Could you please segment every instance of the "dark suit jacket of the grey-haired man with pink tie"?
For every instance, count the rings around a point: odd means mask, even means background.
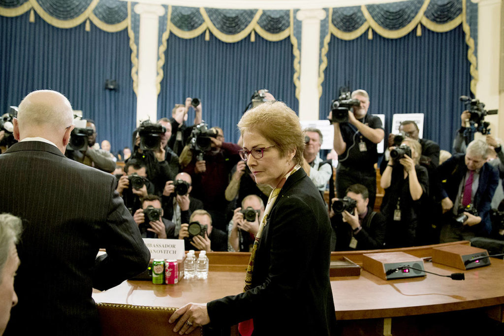
[[[455,203],[459,192],[460,182],[467,173],[465,154],[455,154],[443,162],[437,169],[439,179],[443,182],[443,198],[449,197]],[[499,183],[497,170],[485,162],[479,171],[478,190],[474,195],[474,207],[478,210],[481,223],[477,225],[479,234],[489,235],[492,225],[490,222],[490,207],[495,188]],[[452,210],[449,211],[452,213]]]

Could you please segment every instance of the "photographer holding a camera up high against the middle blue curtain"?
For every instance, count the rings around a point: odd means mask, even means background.
[[[194,124],[193,126],[185,125],[187,121],[187,112],[189,108],[195,109]],[[173,151],[180,156],[182,149],[187,144],[187,139],[191,136],[194,126],[200,125],[203,122],[202,119],[202,107],[201,101],[198,98],[185,98],[185,104],[175,104],[175,107],[171,110],[171,137],[168,141],[168,146],[173,149]]]

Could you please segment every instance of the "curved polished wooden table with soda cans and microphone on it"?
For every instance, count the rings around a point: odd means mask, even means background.
[[[345,256],[359,265],[362,265],[363,253],[403,251],[419,258],[427,258],[431,255],[433,247],[451,244],[469,245],[469,242],[379,251],[333,252],[331,258],[336,260]],[[138,306],[161,307],[148,308],[148,310],[164,309],[164,313],[161,313],[164,317],[161,318],[160,323],[163,323],[165,319],[166,322],[162,327],[171,330],[172,326],[168,325],[167,316],[171,315],[174,309],[169,309],[169,307],[178,308],[188,302],[205,303],[240,293],[249,253],[214,252],[208,253],[208,258],[210,271],[206,280],[187,281],[182,278],[177,285],[125,281],[108,291],[95,291],[93,299],[98,303],[102,317],[105,309],[108,308],[106,320],[103,318],[102,320],[107,321],[108,324],[113,323],[111,317],[114,315],[114,310],[118,308],[128,307],[135,312]],[[427,274],[417,278],[385,281],[363,269],[360,276],[331,277],[335,314],[340,325],[345,329],[354,330],[353,326],[363,325],[363,320],[372,319],[375,322],[371,328],[376,329],[378,326],[380,329],[376,334],[390,335],[392,334],[392,318],[483,307],[488,310],[488,316],[500,323],[504,322],[502,314],[502,307],[504,307],[503,260],[491,258],[490,266],[470,270],[455,269],[429,261],[425,261],[424,264],[425,270],[443,275],[464,272],[466,279],[454,281],[448,277]],[[132,318],[135,319],[134,315]],[[119,320],[124,321],[122,318]],[[143,323],[143,321],[145,320],[137,320],[137,323]],[[345,331],[345,334],[352,334],[352,332]]]

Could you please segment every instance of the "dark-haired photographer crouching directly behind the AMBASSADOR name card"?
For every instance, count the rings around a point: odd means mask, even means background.
[[[161,198],[156,195],[142,198],[142,208],[133,215],[142,238],[175,239],[174,223],[162,216]]]

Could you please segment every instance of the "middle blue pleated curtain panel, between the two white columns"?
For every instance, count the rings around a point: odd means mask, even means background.
[[[225,43],[214,36],[205,41],[203,34],[193,39],[171,34],[158,96],[158,117],[170,118],[174,104],[184,103],[185,97],[200,98],[203,120],[210,127],[221,127],[226,141],[236,142],[236,124],[255,90],[270,90],[297,113],[293,61],[289,38],[269,42],[256,34],[255,42],[245,38]],[[191,109],[188,125],[193,121]]]

